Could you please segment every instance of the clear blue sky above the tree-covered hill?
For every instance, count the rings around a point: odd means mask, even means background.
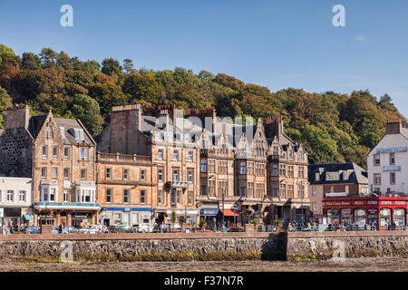
[[[73,27],[60,7],[73,6]],[[332,8],[345,6],[345,27]],[[385,92],[408,116],[408,1],[5,1],[0,43],[137,68],[227,73],[276,92]]]

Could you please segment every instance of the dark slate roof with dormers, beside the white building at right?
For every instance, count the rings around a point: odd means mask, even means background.
[[[319,169],[324,169],[319,180],[315,180],[316,172]],[[346,180],[325,180],[325,172],[338,172],[340,170],[353,170],[353,173]],[[341,184],[341,183],[357,183],[368,184],[367,171],[355,163],[326,163],[326,164],[311,164],[307,167],[308,181],[310,184]],[[341,177],[340,177],[341,178]]]

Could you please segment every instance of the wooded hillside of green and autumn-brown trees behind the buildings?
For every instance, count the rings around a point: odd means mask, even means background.
[[[270,92],[225,73],[136,70],[131,59],[119,63],[80,61],[44,48],[15,55],[0,44],[0,113],[11,102],[29,104],[32,113],[52,108],[57,117],[79,118],[92,134],[110,120],[112,106],[176,104],[179,109],[213,106],[219,117],[265,118],[281,115],[289,138],[303,143],[309,162],[349,162],[366,166],[366,155],[384,134],[385,122],[405,118],[391,96],[377,100],[368,91],[351,95],[310,93],[288,88]],[[0,126],[2,120],[0,117]]]

